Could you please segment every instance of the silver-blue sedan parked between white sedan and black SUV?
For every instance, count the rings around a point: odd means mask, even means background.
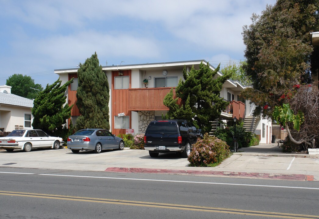
[[[124,149],[124,141],[105,129],[81,129],[70,135],[67,141],[68,148],[73,153],[79,151],[94,151]]]

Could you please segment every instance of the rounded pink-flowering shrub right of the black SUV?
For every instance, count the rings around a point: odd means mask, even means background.
[[[225,141],[206,133],[203,139],[198,139],[193,145],[188,161],[190,166],[219,164],[228,157],[230,152],[228,148]]]

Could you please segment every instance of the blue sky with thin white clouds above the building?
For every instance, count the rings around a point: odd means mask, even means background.
[[[45,87],[96,51],[102,66],[244,60],[243,25],[275,0],[0,0],[0,85]]]

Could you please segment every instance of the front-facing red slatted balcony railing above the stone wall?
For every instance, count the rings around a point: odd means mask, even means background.
[[[129,110],[169,110],[163,104],[163,100],[170,90],[171,88],[131,88],[129,89]],[[173,97],[176,98],[175,88],[173,88]],[[180,99],[177,104],[181,104]]]

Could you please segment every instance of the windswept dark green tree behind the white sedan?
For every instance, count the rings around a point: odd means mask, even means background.
[[[61,86],[60,78],[53,84],[47,85],[33,101],[32,115],[34,129],[41,129],[52,136],[60,136],[65,139],[67,129],[63,129],[66,119],[71,116],[73,107],[65,104],[65,90],[73,81]],[[64,105],[64,106],[63,106]]]

